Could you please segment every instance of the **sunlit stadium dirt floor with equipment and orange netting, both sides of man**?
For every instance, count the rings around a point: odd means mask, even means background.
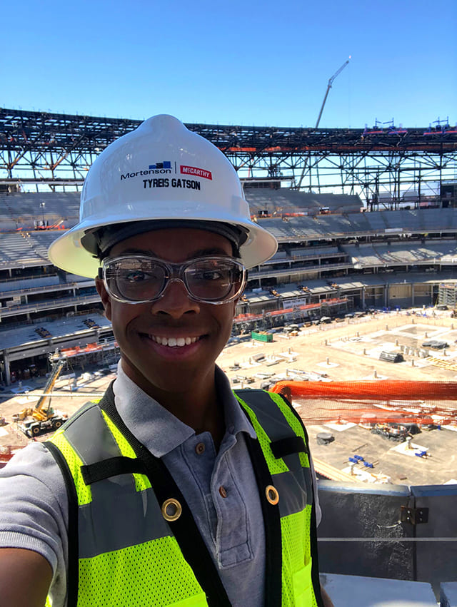
[[[446,484],[457,477],[456,340],[450,311],[348,315],[341,322],[291,323],[274,332],[234,336],[218,364],[233,389],[271,389],[293,402],[306,423],[321,478]],[[430,341],[446,347],[423,347]],[[52,403],[59,419],[101,397],[115,377],[115,365],[110,372],[106,365],[101,370],[103,365],[91,364],[77,375],[71,360],[84,352],[73,348],[56,354],[55,361],[66,366],[61,364],[55,381],[51,374],[47,384],[45,377],[36,378],[13,386],[17,394],[2,394],[1,459],[30,440],[49,437],[24,432],[17,418],[24,409],[31,413],[43,392],[49,393],[44,409]],[[382,359],[383,352],[399,354],[399,362]]]

